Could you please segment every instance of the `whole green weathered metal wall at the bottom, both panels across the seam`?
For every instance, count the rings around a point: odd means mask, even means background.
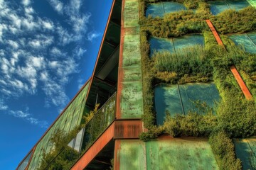
[[[122,140],[117,159],[122,170],[218,169],[208,140],[203,138]]]

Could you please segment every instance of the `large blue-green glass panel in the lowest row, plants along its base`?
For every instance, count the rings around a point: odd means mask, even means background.
[[[181,96],[179,96],[179,92]],[[172,117],[182,114],[184,108],[185,114],[188,111],[196,111],[195,101],[206,102],[211,108],[214,107],[215,101],[219,101],[220,96],[215,84],[183,84],[183,85],[167,85],[160,84],[156,86],[154,92],[154,101],[156,108],[156,123],[162,125],[164,123],[166,110]],[[182,101],[182,105],[181,105]]]

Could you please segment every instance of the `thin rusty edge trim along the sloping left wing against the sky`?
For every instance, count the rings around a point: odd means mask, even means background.
[[[34,145],[33,148],[30,150],[30,152],[28,152],[28,154],[30,154],[31,152],[32,152],[32,154],[31,154],[31,158],[29,159],[28,165],[26,166],[26,170],[28,169],[28,166],[29,166],[29,164],[31,163],[31,159],[32,159],[32,157],[33,157],[33,153],[35,152],[36,146],[38,145],[38,143],[43,139],[43,137],[47,134],[47,132],[50,130],[50,128],[53,127],[53,125],[54,125],[54,124],[56,123],[56,121],[60,118],[60,116],[63,115],[63,113],[65,112],[65,110],[68,108],[68,106],[70,106],[70,104],[75,100],[75,98],[78,96],[78,94],[80,94],[80,92],[82,91],[82,89],[85,88],[85,86],[88,84],[88,82],[89,82],[90,80],[91,80],[91,77],[90,77],[90,79],[88,79],[88,80],[85,82],[85,84],[81,87],[81,89],[78,91],[78,93],[75,94],[75,96],[74,96],[73,99],[68,103],[68,105],[65,106],[65,108],[64,108],[63,111],[60,113],[60,115],[58,115],[58,118],[56,118],[55,121],[54,121],[54,122],[50,125],[50,127],[46,130],[46,132],[43,133],[42,137],[38,140],[38,142],[36,142],[36,145]],[[88,93],[87,93],[87,94],[88,94]],[[85,98],[85,100],[86,100],[86,98]],[[26,154],[26,157],[28,156],[28,154]],[[20,166],[20,165],[22,164],[22,162],[26,159],[26,157],[24,157],[24,158],[22,159],[22,161],[18,164],[18,166]],[[18,169],[18,166],[17,166],[16,170]]]

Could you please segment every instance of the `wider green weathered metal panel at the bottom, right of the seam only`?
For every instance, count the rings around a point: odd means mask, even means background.
[[[158,140],[146,142],[146,169],[218,169],[206,140]]]

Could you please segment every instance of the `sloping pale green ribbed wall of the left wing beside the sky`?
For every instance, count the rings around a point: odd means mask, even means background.
[[[70,103],[65,112],[60,116],[60,118],[58,118],[50,130],[48,130],[42,140],[38,142],[28,169],[37,169],[38,166],[40,166],[41,159],[43,158],[43,152],[48,153],[53,148],[53,145],[49,141],[50,137],[54,135],[56,130],[60,129],[65,130],[65,132],[69,132],[70,130],[73,130],[76,125],[80,125],[82,114],[85,110],[85,97],[87,95],[88,88],[89,83],[87,83],[82,91],[80,91],[80,94],[78,94],[73,102]],[[81,101],[82,99],[84,100]],[[70,121],[66,122],[66,120]]]

